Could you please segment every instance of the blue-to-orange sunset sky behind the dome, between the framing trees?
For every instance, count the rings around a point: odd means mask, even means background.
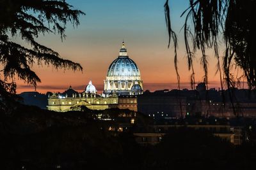
[[[177,76],[173,62],[173,46],[168,48],[168,32],[164,18],[165,0],[68,0],[74,9],[84,11],[80,25],[67,25],[67,38],[45,34],[36,39],[60,53],[61,57],[79,62],[83,72],[53,69],[51,66],[33,66],[41,83],[33,87],[17,79],[17,93],[24,91],[63,92],[71,85],[81,92],[92,80],[98,91],[104,88],[108,67],[118,57],[122,41],[129,57],[136,62],[143,80],[143,90],[177,89]],[[178,59],[181,88],[190,88],[190,74],[180,14],[188,7],[188,0],[172,0],[170,8],[173,30],[178,35]],[[14,38],[15,41],[22,41]],[[209,50],[209,87],[220,87],[216,72],[216,59]],[[195,59],[195,78],[203,81],[200,53]]]

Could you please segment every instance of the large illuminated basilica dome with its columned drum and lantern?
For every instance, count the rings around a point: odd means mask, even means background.
[[[135,83],[137,84],[136,86]],[[132,89],[133,87],[133,89]],[[134,90],[136,89],[136,92]],[[129,58],[124,42],[117,59],[109,66],[104,80],[104,94],[115,92],[118,95],[137,95],[143,93],[143,81],[136,63]]]

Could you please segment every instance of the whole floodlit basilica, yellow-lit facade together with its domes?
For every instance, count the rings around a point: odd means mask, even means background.
[[[83,92],[76,92],[70,86],[63,93],[48,96],[48,110],[69,111],[76,106],[86,106],[92,110],[121,108],[137,111],[137,96],[143,94],[143,81],[136,63],[129,58],[124,42],[117,59],[109,66],[104,91],[97,89],[89,81]]]

